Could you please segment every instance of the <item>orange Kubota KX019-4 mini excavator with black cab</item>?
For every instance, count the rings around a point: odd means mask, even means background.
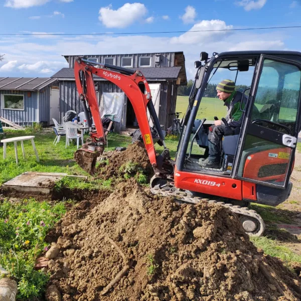
[[[94,67],[98,65],[98,68]],[[301,113],[301,53],[289,51],[241,51],[201,53],[195,62],[195,81],[189,96],[189,105],[182,120],[176,160],[170,158],[160,122],[152,102],[152,95],[139,70],[89,62],[78,57],[74,72],[77,90],[82,101],[90,138],[75,154],[76,161],[93,172],[96,158],[102,154],[105,135],[101,123],[93,75],[116,84],[131,102],[143,142],[155,176],[150,181],[154,194],[172,196],[180,202],[196,204],[208,200],[228,207],[235,213],[249,235],[262,235],[265,225],[250,203],[276,206],[284,202],[291,191],[289,181]],[[242,93],[241,126],[235,130],[227,126],[220,145],[219,168],[206,168],[199,164],[208,152],[200,154],[197,148],[206,149],[200,133],[206,133],[208,122],[197,114],[206,95],[208,83],[218,69],[235,72],[252,72],[252,83]],[[164,146],[156,156],[147,110],[155,130]],[[205,139],[206,140],[206,139]],[[208,139],[207,139],[208,145]],[[83,157],[89,164],[83,164]]]

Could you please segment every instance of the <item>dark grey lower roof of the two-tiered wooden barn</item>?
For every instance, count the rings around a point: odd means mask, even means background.
[[[143,68],[131,68],[134,70],[140,70],[147,80],[176,80],[179,77],[181,66],[178,67],[143,67]],[[63,68],[52,76],[53,78],[60,79],[74,79],[73,68]],[[95,79],[105,80],[103,78],[94,75]],[[1,83],[1,82],[0,82]]]

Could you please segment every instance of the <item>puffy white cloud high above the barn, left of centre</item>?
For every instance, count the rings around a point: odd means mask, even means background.
[[[147,13],[144,4],[126,3],[116,11],[112,10],[112,5],[100,8],[99,21],[108,28],[125,28],[135,21],[143,18]]]

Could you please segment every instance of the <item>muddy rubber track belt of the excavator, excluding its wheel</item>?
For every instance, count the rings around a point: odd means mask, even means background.
[[[248,216],[256,219],[259,222],[259,229],[255,233],[253,232],[246,232],[250,236],[261,236],[265,230],[265,224],[261,216],[255,211],[251,210],[247,207],[240,207],[240,206],[234,206],[232,204],[226,204],[224,202],[218,202],[215,200],[209,200],[209,199],[203,199],[200,197],[195,196],[188,196],[187,193],[178,190],[177,188],[172,188],[172,190],[163,190],[160,188],[150,188],[150,191],[154,195],[162,195],[164,197],[174,197],[177,200],[185,203],[191,203],[191,204],[198,204],[200,201],[206,201],[210,204],[216,204],[221,205],[224,207],[229,208],[233,213],[237,214],[239,217]]]

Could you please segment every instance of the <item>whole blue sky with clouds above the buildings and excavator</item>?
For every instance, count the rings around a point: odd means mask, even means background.
[[[184,51],[188,78],[201,51],[301,51],[301,29],[187,33],[189,30],[301,26],[300,0],[83,1],[2,0],[0,76],[48,77],[67,63],[63,54]],[[185,31],[148,35],[93,33]],[[35,36],[22,36],[35,33]],[[73,33],[74,36],[41,36]]]

